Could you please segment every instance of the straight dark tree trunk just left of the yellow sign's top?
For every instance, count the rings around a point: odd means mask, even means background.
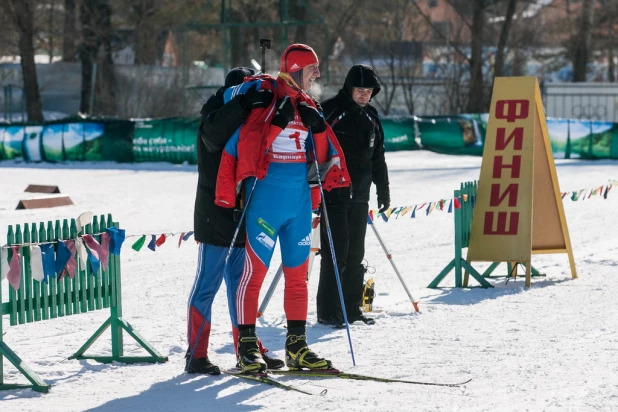
[[[473,0],[472,56],[470,59],[470,90],[468,90],[468,113],[483,113],[483,29],[485,26],[485,0]]]

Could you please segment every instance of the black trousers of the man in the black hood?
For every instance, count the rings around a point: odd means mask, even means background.
[[[335,256],[348,318],[361,314],[365,268],[365,233],[369,204],[356,202],[327,202],[326,211],[335,246]],[[323,219],[323,218],[322,218]],[[317,310],[319,319],[341,316],[341,303],[333,268],[326,224],[320,224],[320,284],[318,286]]]

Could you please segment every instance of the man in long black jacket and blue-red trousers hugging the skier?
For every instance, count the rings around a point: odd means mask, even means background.
[[[234,232],[238,226],[239,210],[215,205],[215,184],[221,153],[225,144],[247,119],[251,109],[267,107],[272,101],[270,90],[249,89],[228,103],[223,102],[223,92],[240,84],[246,76],[253,75],[252,69],[235,68],[225,78],[221,87],[202,107],[197,134],[198,184],[195,199],[194,231],[199,242],[198,266],[193,289],[189,296],[187,362],[188,373],[219,375],[218,366],[208,359],[208,338],[212,303],[222,280],[225,278],[227,299],[232,320],[234,348],[238,347],[238,322],[236,316],[236,290],[242,275],[245,258],[245,225],[241,224],[232,248],[229,261],[226,256]],[[194,349],[191,358],[191,350]],[[260,349],[266,352],[260,344]],[[283,361],[263,355],[270,369],[283,367]]]

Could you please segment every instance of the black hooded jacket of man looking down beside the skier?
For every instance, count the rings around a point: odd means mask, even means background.
[[[322,102],[324,117],[337,135],[352,180],[352,193],[347,188],[325,192],[327,203],[368,202],[371,182],[379,198],[390,197],[382,123],[371,104],[361,107],[352,100],[353,87],[373,88],[372,99],[380,92],[373,69],[358,64],[348,72],[339,93]]]

